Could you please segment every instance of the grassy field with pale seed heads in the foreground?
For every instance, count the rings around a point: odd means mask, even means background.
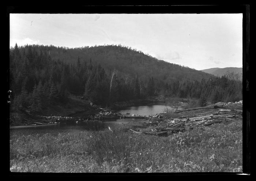
[[[109,129],[10,133],[11,172],[242,172],[242,120],[157,137]]]

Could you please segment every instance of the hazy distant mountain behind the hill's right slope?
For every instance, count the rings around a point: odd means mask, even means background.
[[[201,70],[203,72],[206,72],[208,74],[212,74],[215,76],[223,76],[226,75],[228,72],[234,72],[234,74],[239,75],[240,80],[242,79],[242,68],[238,68],[238,67],[226,67],[226,68],[208,68],[208,69],[204,69]]]

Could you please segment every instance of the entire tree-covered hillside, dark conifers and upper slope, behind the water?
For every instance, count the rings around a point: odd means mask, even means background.
[[[202,104],[242,99],[242,82],[158,60],[125,46],[10,48],[11,109],[40,112],[69,95],[97,105],[162,94]],[[202,101],[203,100],[203,101]]]

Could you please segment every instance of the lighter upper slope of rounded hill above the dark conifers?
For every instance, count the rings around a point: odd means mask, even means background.
[[[36,49],[46,49],[50,52],[53,60],[60,59],[66,63],[76,63],[78,57],[80,61],[91,60],[93,64],[101,64],[107,74],[114,68],[118,71],[118,76],[124,77],[129,74],[134,77],[138,75],[141,79],[154,77],[164,80],[201,80],[208,79],[212,75],[192,68],[168,63],[158,60],[150,55],[145,55],[141,51],[136,51],[124,46],[94,46],[83,48],[65,49],[61,47],[35,47]]]

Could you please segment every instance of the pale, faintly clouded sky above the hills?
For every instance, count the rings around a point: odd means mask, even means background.
[[[10,47],[121,44],[203,70],[242,67],[242,14],[10,14]]]

